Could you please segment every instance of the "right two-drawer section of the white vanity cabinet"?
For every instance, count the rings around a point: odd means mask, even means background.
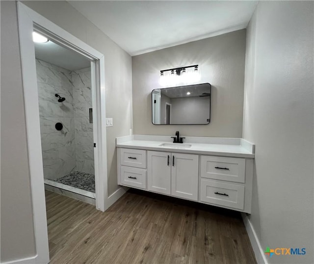
[[[253,159],[201,156],[200,202],[251,211]]]

